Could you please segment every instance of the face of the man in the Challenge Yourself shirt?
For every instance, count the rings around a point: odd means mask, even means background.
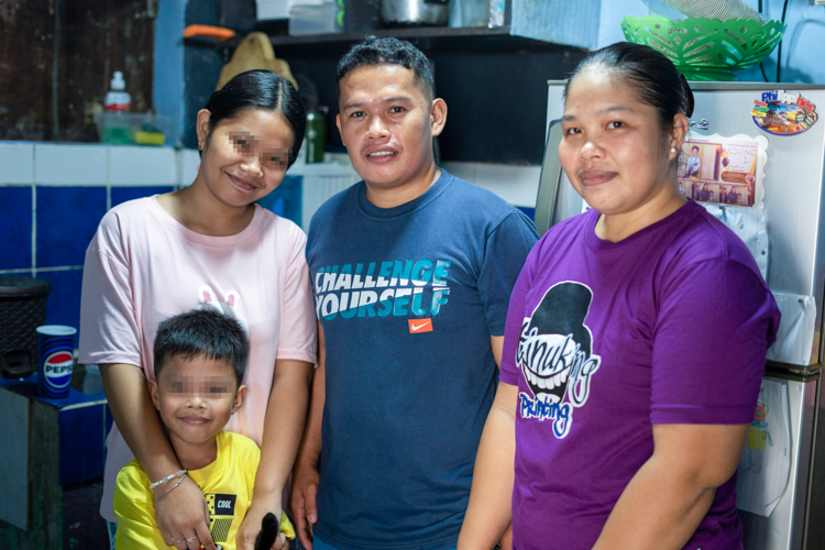
[[[394,188],[426,174],[432,160],[432,136],[441,133],[443,101],[429,101],[411,69],[383,64],[359,67],[340,82],[341,113],[336,119],[341,141],[359,175],[373,186]],[[433,112],[437,112],[433,116]]]

